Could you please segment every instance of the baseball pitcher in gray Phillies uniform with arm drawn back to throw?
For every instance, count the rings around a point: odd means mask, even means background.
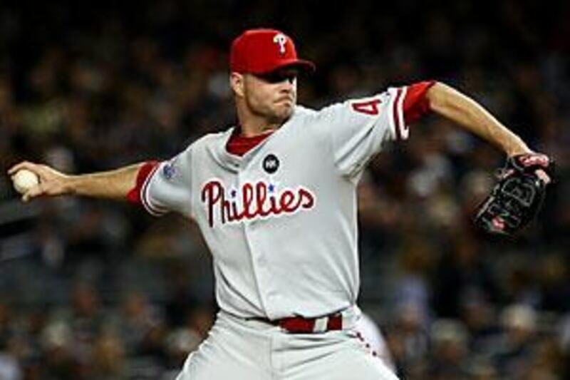
[[[178,379],[396,379],[355,330],[356,186],[366,163],[387,143],[407,139],[410,123],[426,113],[448,118],[517,158],[509,178],[529,178],[482,205],[483,227],[511,233],[522,227],[524,220],[513,227],[521,215],[534,212],[527,203],[544,193],[549,160],[435,81],[318,111],[298,106],[298,73],[315,66],[297,57],[281,31],[245,31],[232,43],[229,66],[237,125],[170,160],[87,175],[24,162],[9,174],[39,176],[24,201],[108,197],[197,222],[213,255],[220,312]]]

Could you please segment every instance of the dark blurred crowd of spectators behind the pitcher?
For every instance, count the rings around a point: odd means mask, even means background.
[[[249,27],[316,62],[306,106],[444,81],[553,156],[556,184],[517,239],[484,236],[471,218],[504,155],[435,116],[413,125],[361,183],[361,307],[403,379],[570,379],[570,6],[545,5],[0,4],[0,168],[109,170],[228,128],[227,52]],[[174,379],[214,319],[209,265],[180,217],[21,205],[0,175],[0,379]]]

